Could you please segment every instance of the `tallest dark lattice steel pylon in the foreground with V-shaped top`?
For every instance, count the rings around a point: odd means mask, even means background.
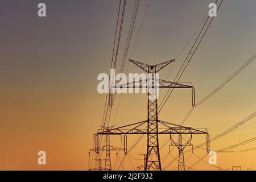
[[[145,159],[144,170],[148,171],[151,168],[158,171],[162,170],[159,152],[159,134],[208,134],[207,129],[192,129],[191,127],[184,127],[175,125],[173,123],[160,121],[158,119],[158,89],[159,88],[192,88],[192,93],[195,93],[192,83],[177,83],[166,80],[160,80],[156,73],[172,63],[174,60],[166,61],[164,63],[149,65],[139,61],[130,60],[145,71],[148,77],[144,80],[137,80],[127,82],[125,84],[116,84],[113,88],[129,88],[129,89],[147,89],[147,120],[134,123],[131,125],[121,126],[109,130],[98,130],[96,135],[127,135],[127,134],[146,134],[147,135],[147,153]],[[195,96],[192,96],[192,100]],[[141,129],[146,125],[146,130]],[[162,126],[162,127],[159,127]],[[126,143],[126,142],[125,142]],[[96,144],[97,146],[97,144]],[[127,146],[124,146],[127,148]],[[149,156],[152,155],[152,159]]]

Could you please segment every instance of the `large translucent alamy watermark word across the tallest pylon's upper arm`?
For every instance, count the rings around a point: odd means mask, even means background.
[[[97,90],[98,93],[148,93],[150,100],[158,98],[159,74],[158,73],[118,73],[110,69],[110,76],[100,73],[97,77],[101,81]]]

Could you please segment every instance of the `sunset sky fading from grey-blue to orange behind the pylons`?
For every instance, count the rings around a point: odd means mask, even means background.
[[[38,17],[38,3],[47,6],[47,17]],[[119,62],[125,47],[135,1],[127,1],[127,9]],[[142,0],[131,47],[134,46],[147,5]],[[128,58],[148,64],[175,59],[208,13],[213,0],[151,0],[135,51]],[[0,169],[2,170],[88,170],[88,152],[93,147],[93,134],[102,121],[105,94],[97,92],[97,75],[109,73],[112,56],[117,0],[26,0],[0,2]],[[256,1],[224,0],[217,17],[193,57],[181,82],[192,82],[199,101],[232,75],[256,52]],[[191,47],[189,44],[188,48]],[[160,72],[160,78],[173,81],[188,48],[171,65]],[[126,64],[127,65],[127,64]],[[141,72],[129,65],[129,73]],[[256,63],[197,107],[185,126],[207,128],[210,137],[221,133],[255,111]],[[160,93],[162,100],[166,90]],[[117,96],[110,125],[122,126],[147,117],[146,94]],[[175,90],[159,118],[179,124],[191,108],[191,90]],[[116,114],[117,113],[117,114]],[[116,116],[116,117],[115,117]],[[246,125],[254,123],[252,119]],[[245,126],[246,126],[245,125]],[[218,150],[255,137],[256,124],[222,137],[210,144]],[[160,137],[160,146],[168,136]],[[128,147],[135,141],[128,138]],[[119,147],[121,139],[112,144]],[[197,145],[205,137],[195,136]],[[256,142],[237,148],[256,147]],[[39,166],[38,151],[46,151],[47,165]],[[235,150],[235,149],[234,149]],[[131,151],[142,159],[146,137]],[[161,151],[168,154],[168,145]],[[172,155],[176,156],[174,148]],[[205,151],[196,150],[197,156]],[[122,158],[123,152],[119,152]],[[191,153],[185,155],[185,159]],[[218,154],[216,167],[256,170],[256,151]],[[115,152],[112,162],[115,162]],[[166,170],[175,169],[173,158],[163,163]],[[198,160],[192,155],[187,166]],[[208,158],[205,158],[208,161]],[[131,158],[134,167],[143,160]],[[92,163],[92,158],[90,159]],[[114,165],[114,164],[113,164]],[[124,169],[133,169],[127,160]],[[200,162],[193,169],[216,170]]]

